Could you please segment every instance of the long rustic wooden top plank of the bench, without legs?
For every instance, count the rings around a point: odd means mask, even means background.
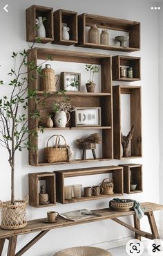
[[[141,205],[142,207],[144,207],[144,212],[153,212],[153,211],[163,209],[163,205],[159,205],[156,203],[146,202],[146,203],[141,203]],[[102,221],[106,219],[113,219],[117,217],[130,216],[135,214],[133,210],[128,212],[117,212],[117,211],[111,210],[110,208],[95,210],[95,212],[102,213],[102,216],[91,216],[90,218],[84,219],[81,221],[68,221],[66,219],[57,219],[55,223],[44,223],[44,219],[35,219],[32,221],[28,221],[27,226],[19,230],[2,230],[0,228],[0,239],[13,237],[15,235],[20,235],[20,234],[28,234],[28,233],[39,232],[43,230],[52,230],[55,228],[64,228],[70,225],[79,225],[84,223]]]

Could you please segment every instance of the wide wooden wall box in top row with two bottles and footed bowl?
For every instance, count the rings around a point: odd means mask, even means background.
[[[121,31],[128,33],[129,46],[113,46],[103,44],[93,44],[86,41],[86,27],[90,27],[93,24],[97,25],[97,28],[106,28],[112,31]],[[78,44],[77,46],[104,49],[110,51],[139,51],[140,50],[140,22],[133,22],[125,19],[115,19],[111,17],[103,17],[99,15],[82,14],[78,16]]]

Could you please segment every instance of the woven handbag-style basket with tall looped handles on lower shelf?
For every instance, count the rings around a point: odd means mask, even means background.
[[[48,146],[48,142],[52,137],[56,137],[55,146]],[[64,139],[64,145],[59,147],[60,138]],[[68,146],[66,139],[62,135],[52,135],[44,148],[44,160],[46,162],[67,162],[68,161]]]

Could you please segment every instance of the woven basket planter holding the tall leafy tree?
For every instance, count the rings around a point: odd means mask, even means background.
[[[26,204],[28,197],[24,200],[15,200],[15,205],[10,201],[1,202],[1,228],[3,230],[17,230],[27,225]]]

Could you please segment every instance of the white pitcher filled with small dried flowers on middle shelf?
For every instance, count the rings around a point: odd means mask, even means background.
[[[70,120],[70,113],[75,111],[75,107],[70,105],[67,100],[65,101],[55,101],[52,105],[52,109],[55,111],[55,126],[56,127],[66,127],[66,123]],[[66,114],[68,114],[68,119]]]

